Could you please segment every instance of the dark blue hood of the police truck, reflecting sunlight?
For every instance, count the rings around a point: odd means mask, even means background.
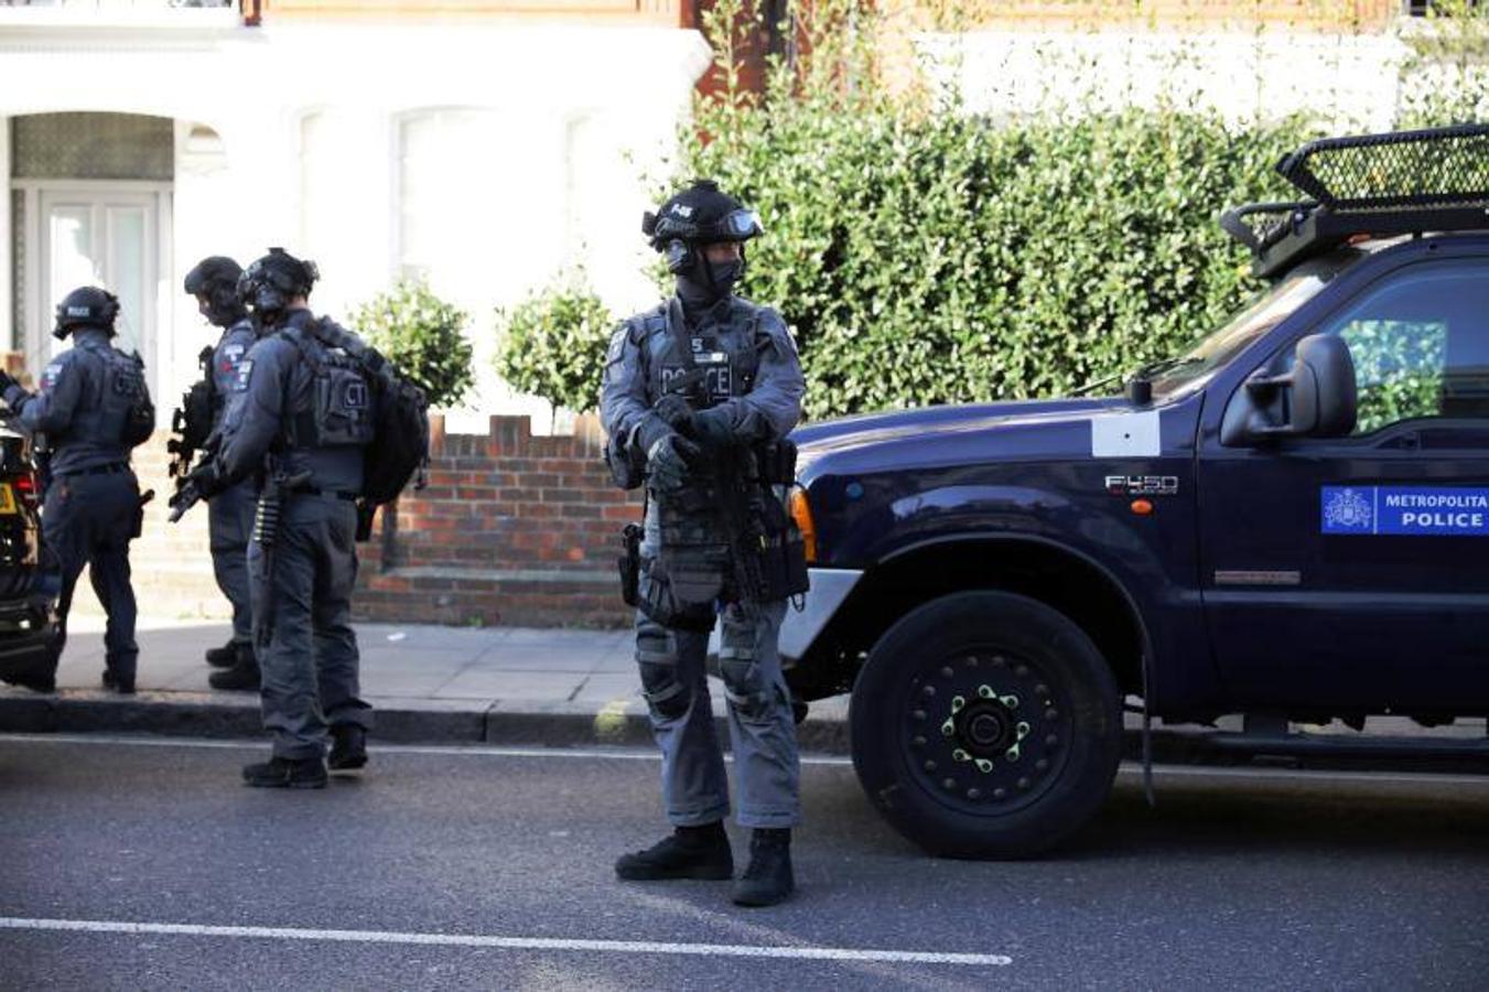
[[[922,407],[810,423],[791,436],[800,447],[798,477],[806,483],[823,471],[862,472],[1041,453],[1068,457],[1071,432],[1087,436],[1093,417],[1132,411],[1126,399],[1102,396]],[[1088,438],[1085,445],[1090,453]]]

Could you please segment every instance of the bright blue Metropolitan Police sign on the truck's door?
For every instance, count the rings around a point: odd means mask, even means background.
[[[1489,489],[1324,486],[1321,532],[1489,538]]]

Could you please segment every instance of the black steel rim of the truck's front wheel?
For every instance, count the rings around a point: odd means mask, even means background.
[[[1048,792],[1074,731],[1069,697],[1051,673],[992,646],[922,658],[899,721],[911,779],[974,816],[1004,816]]]

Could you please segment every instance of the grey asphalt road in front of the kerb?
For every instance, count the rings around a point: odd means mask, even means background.
[[[0,736],[0,986],[1489,980],[1489,778],[1173,769],[1150,810],[1127,769],[1074,848],[954,862],[813,760],[801,891],[746,912],[725,883],[613,879],[661,833],[646,754],[389,748],[362,780],[280,792],[237,782],[261,751]]]

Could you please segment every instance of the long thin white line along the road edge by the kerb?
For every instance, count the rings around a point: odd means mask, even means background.
[[[204,737],[149,737],[131,734],[0,734],[0,742],[16,743],[66,743],[66,745],[100,745],[100,746],[130,746],[130,748],[207,748],[228,751],[262,751],[265,740],[246,740],[241,737],[204,739]],[[652,749],[642,748],[542,748],[518,745],[404,745],[377,743],[374,754],[435,754],[460,755],[468,758],[569,758],[581,761],[660,761],[661,755]],[[731,760],[725,755],[725,760]],[[801,755],[801,764],[826,767],[852,767],[853,760],[838,755]],[[1489,785],[1489,776],[1483,775],[1450,775],[1443,772],[1397,773],[1397,772],[1331,772],[1328,769],[1246,769],[1231,766],[1185,766],[1185,764],[1155,764],[1152,773],[1160,778],[1193,779],[1258,779],[1258,780],[1330,780],[1330,782],[1377,782],[1377,783],[1421,783],[1421,785]],[[1124,761],[1117,775],[1142,775],[1142,766],[1136,761]]]

